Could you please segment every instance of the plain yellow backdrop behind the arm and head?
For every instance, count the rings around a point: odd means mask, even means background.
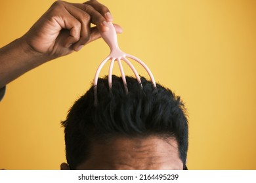
[[[24,35],[53,2],[0,1],[0,47]],[[123,27],[121,49],[142,59],[185,102],[188,168],[256,169],[256,1],[100,2]],[[7,85],[0,169],[59,169],[66,161],[60,121],[108,53],[99,39]],[[127,75],[130,70],[125,67]],[[101,76],[107,73],[104,68]]]

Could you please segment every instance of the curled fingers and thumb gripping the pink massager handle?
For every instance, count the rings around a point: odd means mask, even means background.
[[[87,1],[86,3],[67,3],[64,1],[56,1],[58,14],[56,22],[62,29],[68,29],[70,35],[65,38],[64,47],[72,48],[75,51],[80,50],[85,44],[95,41],[100,37],[100,31],[108,31],[107,22],[112,22],[113,18],[110,10],[96,0]],[[96,27],[91,28],[91,23]],[[122,29],[116,25],[117,33],[121,33]]]

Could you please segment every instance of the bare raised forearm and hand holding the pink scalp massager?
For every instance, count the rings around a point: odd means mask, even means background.
[[[112,20],[110,10],[96,0],[56,1],[25,35],[0,48],[0,88],[47,61],[81,50],[100,38],[98,29],[108,31],[105,24]],[[119,25],[115,28],[121,33]]]

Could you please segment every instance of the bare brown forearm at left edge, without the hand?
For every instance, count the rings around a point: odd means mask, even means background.
[[[22,38],[0,48],[0,88],[47,60],[43,54],[33,51]]]

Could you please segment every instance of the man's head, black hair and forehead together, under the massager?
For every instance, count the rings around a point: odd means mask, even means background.
[[[184,105],[171,90],[141,78],[99,78],[62,122],[71,169],[182,169],[188,150]]]

